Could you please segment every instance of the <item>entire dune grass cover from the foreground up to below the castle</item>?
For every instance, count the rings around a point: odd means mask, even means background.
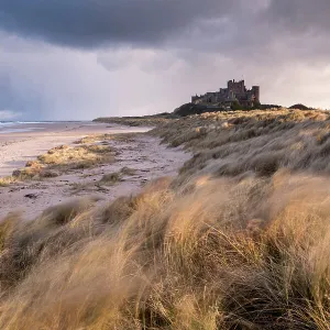
[[[187,117],[152,132],[194,153],[177,178],[8,217],[0,328],[329,329],[329,129],[322,111]]]

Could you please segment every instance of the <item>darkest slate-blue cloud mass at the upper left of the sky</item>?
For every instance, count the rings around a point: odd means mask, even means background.
[[[0,29],[69,46],[155,44],[240,0],[1,0]]]

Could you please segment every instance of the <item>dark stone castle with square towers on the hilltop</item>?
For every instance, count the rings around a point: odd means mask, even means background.
[[[260,86],[246,89],[244,80],[229,80],[227,88],[220,88],[219,91],[193,96],[191,103],[224,108],[230,108],[234,103],[239,103],[242,107],[254,107],[260,103]]]

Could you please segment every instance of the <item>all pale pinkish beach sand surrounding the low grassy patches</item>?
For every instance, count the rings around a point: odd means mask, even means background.
[[[146,132],[150,128],[123,128],[101,123],[57,123],[33,132],[0,134],[0,176],[10,175],[23,167],[28,161],[50,148],[70,144],[91,134]],[[70,170],[56,178],[29,180],[0,187],[0,219],[16,211],[31,220],[47,207],[69,201],[74,198],[94,196],[97,205],[107,204],[120,196],[135,194],[150,180],[162,176],[175,176],[190,157],[182,148],[169,148],[160,144],[157,138],[136,134],[130,141],[111,141],[119,154],[113,164],[88,169]],[[122,180],[112,186],[96,185],[105,174],[134,169],[133,175],[123,175]]]

